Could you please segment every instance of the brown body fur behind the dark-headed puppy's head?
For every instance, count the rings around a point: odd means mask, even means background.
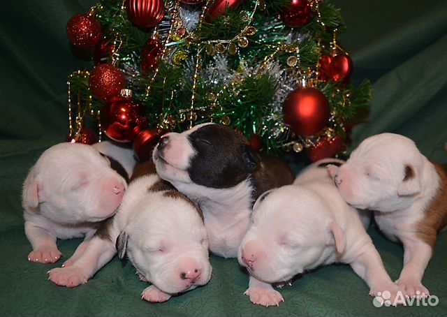
[[[284,161],[275,156],[261,154],[261,163],[253,172],[253,202],[265,191],[290,185],[294,180],[295,175]]]

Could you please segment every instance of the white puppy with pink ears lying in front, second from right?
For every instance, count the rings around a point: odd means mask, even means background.
[[[366,281],[370,295],[389,290],[394,301],[398,288],[356,209],[344,202],[320,163],[307,168],[295,184],[256,200],[237,257],[251,275],[245,294],[254,304],[278,305],[284,299],[270,284],[288,283],[319,265],[348,263]]]

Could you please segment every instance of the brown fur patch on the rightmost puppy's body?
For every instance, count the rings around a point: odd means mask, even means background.
[[[432,162],[441,179],[439,189],[425,209],[422,221],[416,224],[419,239],[434,248],[439,231],[447,226],[447,172],[441,165]]]

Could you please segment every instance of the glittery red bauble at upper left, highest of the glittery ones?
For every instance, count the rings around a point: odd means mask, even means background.
[[[67,23],[70,43],[79,48],[93,48],[101,39],[101,24],[87,13],[73,15]]]

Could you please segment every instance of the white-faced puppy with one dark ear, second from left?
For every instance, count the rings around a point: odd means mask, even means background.
[[[211,277],[208,239],[197,205],[155,173],[152,161],[137,165],[121,206],[68,267],[50,270],[57,285],[86,283],[118,253],[127,256],[142,281],[149,302],[203,286]]]

